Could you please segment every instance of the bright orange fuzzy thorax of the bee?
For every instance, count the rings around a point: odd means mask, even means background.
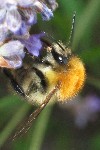
[[[59,100],[64,101],[74,97],[82,89],[85,81],[85,68],[82,61],[76,56],[71,57],[58,78],[60,82]]]

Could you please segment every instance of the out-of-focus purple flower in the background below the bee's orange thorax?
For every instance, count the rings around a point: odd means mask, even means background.
[[[69,102],[67,108],[72,111],[76,126],[84,128],[88,122],[95,121],[97,113],[100,112],[100,98],[89,95],[83,101]]]

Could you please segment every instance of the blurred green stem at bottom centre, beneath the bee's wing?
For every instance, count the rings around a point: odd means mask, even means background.
[[[39,115],[36,124],[35,124],[35,128],[34,131],[32,133],[32,140],[31,140],[31,144],[30,144],[30,148],[29,150],[40,150],[41,149],[41,145],[45,136],[45,131],[46,131],[46,127],[47,127],[47,123],[51,114],[51,107],[49,106],[47,108],[45,108],[41,114]]]

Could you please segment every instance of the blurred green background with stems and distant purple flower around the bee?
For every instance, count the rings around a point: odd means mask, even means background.
[[[27,134],[9,142],[8,137],[34,107],[9,92],[1,73],[0,150],[100,150],[100,0],[57,2],[54,18],[43,22],[38,16],[32,32],[45,31],[66,44],[76,11],[72,51],[85,64],[86,83],[74,100],[47,106]]]

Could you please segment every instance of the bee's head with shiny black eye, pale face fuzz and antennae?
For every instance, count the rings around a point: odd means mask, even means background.
[[[71,47],[72,47],[72,41],[73,41],[73,34],[74,34],[74,28],[75,28],[75,16],[76,12],[73,14],[72,19],[72,26],[71,26],[71,32],[69,36],[69,41],[67,42],[67,45],[64,45],[61,41],[56,41],[52,36],[47,35],[51,39],[53,39],[55,42],[51,45],[51,52],[58,64],[66,65],[68,60],[71,57]]]

